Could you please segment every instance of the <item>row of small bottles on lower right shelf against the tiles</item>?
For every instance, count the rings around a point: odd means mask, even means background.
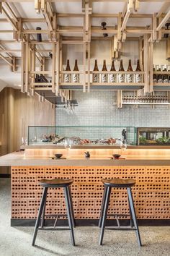
[[[162,95],[124,95],[122,103],[169,103],[169,97]]]

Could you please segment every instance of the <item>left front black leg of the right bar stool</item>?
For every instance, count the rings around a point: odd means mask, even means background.
[[[108,207],[109,207],[110,192],[111,192],[111,187],[107,187],[106,197],[105,197],[105,200],[104,200],[104,208],[103,208],[103,216],[102,216],[102,227],[101,227],[101,231],[100,231],[99,245],[102,245],[102,242],[103,242],[104,227],[105,227],[106,218],[107,218],[107,210],[108,210]]]

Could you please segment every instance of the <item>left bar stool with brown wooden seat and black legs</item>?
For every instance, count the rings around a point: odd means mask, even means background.
[[[71,243],[73,245],[75,245],[74,234],[73,234],[73,227],[75,227],[75,220],[74,220],[74,215],[73,215],[73,202],[72,202],[72,198],[71,198],[71,189],[70,189],[70,185],[72,183],[73,183],[73,179],[41,179],[40,180],[40,185],[44,189],[42,192],[40,208],[39,208],[39,211],[37,214],[37,221],[35,223],[35,231],[33,234],[32,245],[35,245],[35,239],[37,236],[38,229],[60,230],[60,229],[55,229],[55,226],[56,226],[56,223],[58,220],[58,216],[65,216],[62,214],[58,214],[57,216],[53,215],[53,217],[56,217],[53,228],[43,228],[44,222],[45,222],[45,216],[52,216],[52,215],[45,215],[45,205],[46,205],[48,188],[58,188],[58,187],[63,187],[63,190],[64,190],[69,230],[71,231]],[[42,220],[41,220],[41,216],[42,216]],[[40,220],[41,220],[41,227],[39,227]],[[66,229],[61,229],[61,230],[66,230]]]

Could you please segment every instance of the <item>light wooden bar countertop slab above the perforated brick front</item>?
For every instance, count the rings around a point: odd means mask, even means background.
[[[24,156],[24,153],[10,153],[0,157],[0,166],[170,166],[170,160],[148,159],[58,159],[40,156]]]

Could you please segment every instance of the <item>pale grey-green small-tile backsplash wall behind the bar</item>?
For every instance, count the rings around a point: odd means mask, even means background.
[[[72,98],[78,101],[79,106],[73,113],[64,108],[56,108],[57,126],[170,127],[169,106],[151,108],[140,105],[137,108],[131,105],[117,109],[115,91],[76,91]],[[77,136],[81,136],[81,132]]]

